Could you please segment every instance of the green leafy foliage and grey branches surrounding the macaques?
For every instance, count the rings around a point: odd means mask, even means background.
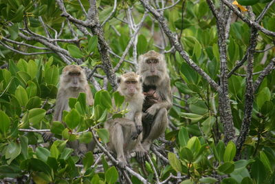
[[[275,183],[274,0],[238,2],[0,0],[1,181],[123,182],[102,123],[124,113],[111,105],[123,101],[115,75],[157,50],[173,108],[144,168],[134,157],[126,167],[131,182]],[[70,99],[67,127],[51,125],[59,74],[72,63],[87,70],[95,104]],[[98,152],[81,162],[66,143],[92,136]]]

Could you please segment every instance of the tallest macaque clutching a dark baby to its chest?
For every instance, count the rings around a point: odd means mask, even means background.
[[[159,138],[168,125],[167,112],[172,106],[172,94],[163,54],[151,50],[141,55],[138,62],[145,95],[142,147],[148,151],[153,140]],[[137,152],[137,156],[142,157],[144,153]]]

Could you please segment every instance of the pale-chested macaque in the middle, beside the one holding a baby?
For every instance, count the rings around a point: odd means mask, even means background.
[[[129,112],[124,118],[112,119],[104,124],[104,128],[109,130],[110,142],[109,150],[115,152],[120,167],[127,164],[126,156],[135,148],[143,151],[140,143],[142,139],[142,81],[139,75],[134,72],[123,74],[118,78],[118,92],[124,96],[124,108]],[[127,105],[127,106],[126,106]]]

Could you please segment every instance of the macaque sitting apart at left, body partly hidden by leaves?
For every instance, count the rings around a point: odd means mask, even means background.
[[[84,70],[78,65],[67,65],[63,68],[58,88],[58,93],[56,96],[56,108],[54,110],[53,121],[61,121],[63,116],[63,110],[69,111],[69,98],[77,98],[80,92],[86,94],[87,105],[93,105],[94,98],[91,94],[91,89],[86,79]],[[52,133],[48,132],[43,134],[43,139],[48,141],[51,139]],[[87,147],[94,147],[93,145],[85,145],[84,143],[79,143],[78,141],[72,141],[69,146],[75,150],[76,154],[85,154],[87,152]],[[92,148],[93,149],[93,148]]]

